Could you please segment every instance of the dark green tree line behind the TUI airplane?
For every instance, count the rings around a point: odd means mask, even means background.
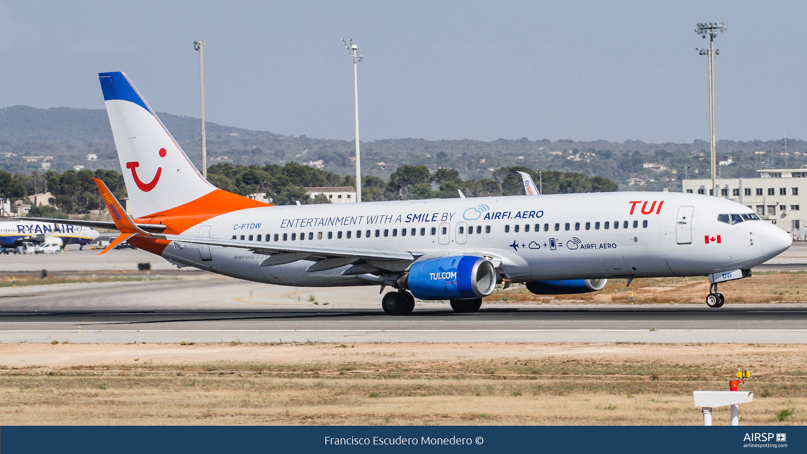
[[[405,164],[392,172],[388,180],[375,176],[362,177],[362,200],[420,200],[459,197],[523,195],[524,186],[518,171],[526,172],[541,185],[544,194],[617,191],[617,183],[603,177],[587,177],[575,172],[544,170],[538,172],[525,166],[503,167],[489,179],[462,179],[456,169],[437,169],[431,173],[427,166]],[[0,170],[0,199],[22,200],[31,204],[28,195],[50,192],[53,207],[31,206],[29,216],[66,218],[69,214],[88,213],[102,209],[103,203],[93,178],[107,183],[115,197],[126,197],[123,175],[115,170],[39,171],[31,174],[11,174]],[[224,191],[239,195],[266,193],[273,204],[328,204],[324,195],[312,199],[306,187],[355,187],[353,175],[333,172],[289,162],[284,166],[218,163],[207,168],[207,179]],[[540,183],[539,183],[540,182]],[[13,205],[12,205],[12,209]]]

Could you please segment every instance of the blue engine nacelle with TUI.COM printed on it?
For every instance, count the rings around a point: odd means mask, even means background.
[[[420,300],[462,300],[490,295],[496,271],[490,260],[452,255],[412,264],[406,286]]]

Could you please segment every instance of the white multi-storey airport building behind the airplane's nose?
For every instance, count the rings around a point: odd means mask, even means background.
[[[807,235],[807,168],[757,170],[759,177],[718,179],[720,197],[734,200],[754,210],[771,224],[778,225],[793,239],[804,240]],[[684,192],[713,195],[711,179],[685,179]]]

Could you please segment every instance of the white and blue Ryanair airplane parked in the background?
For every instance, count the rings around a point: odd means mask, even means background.
[[[37,221],[31,221],[37,219]],[[0,247],[15,248],[25,242],[59,243],[84,246],[98,238],[98,231],[87,226],[65,223],[61,219],[17,218],[15,221],[0,221]],[[69,222],[69,221],[67,221]]]

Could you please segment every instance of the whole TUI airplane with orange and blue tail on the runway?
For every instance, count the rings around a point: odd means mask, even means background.
[[[96,180],[122,232],[110,247],[128,239],[180,267],[396,288],[382,299],[393,315],[412,313],[415,298],[474,312],[496,284],[564,294],[608,278],[693,275],[709,276],[707,304],[720,307],[718,282],[750,276],[792,242],[751,208],[672,192],[267,205],[208,183],[125,74],[99,76],[135,217]]]

